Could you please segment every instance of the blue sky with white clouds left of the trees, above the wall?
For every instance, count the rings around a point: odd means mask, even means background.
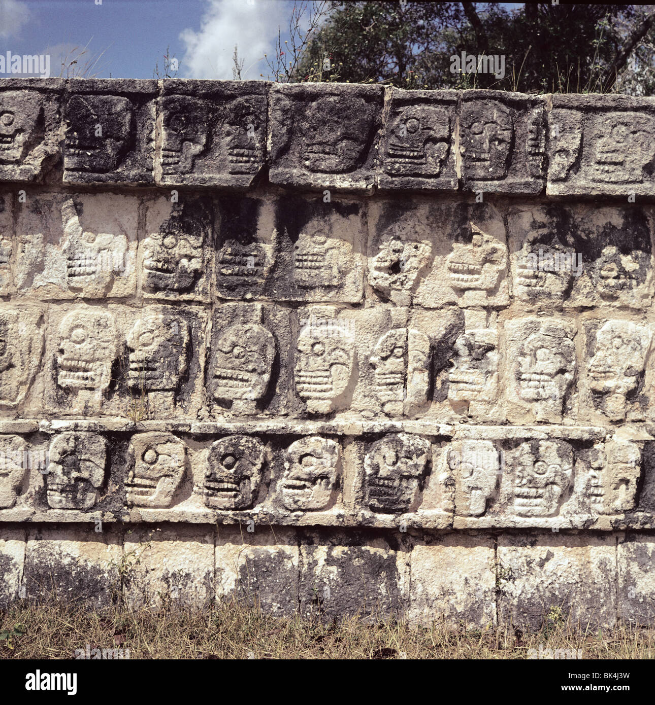
[[[232,78],[234,44],[242,78],[264,78],[264,54],[278,25],[289,25],[293,0],[0,0],[0,55],[48,54],[51,75],[62,61],[95,59],[98,78],[152,78],[163,55],[179,61],[180,78]],[[516,5],[516,4],[512,4]],[[102,56],[100,56],[102,54]],[[100,56],[100,58],[98,58]]]

